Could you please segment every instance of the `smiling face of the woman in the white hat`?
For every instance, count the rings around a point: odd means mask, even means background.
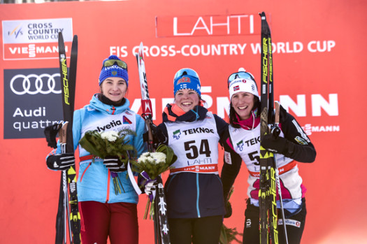
[[[241,120],[247,120],[254,107],[254,95],[249,92],[238,92],[231,97],[231,103]]]

